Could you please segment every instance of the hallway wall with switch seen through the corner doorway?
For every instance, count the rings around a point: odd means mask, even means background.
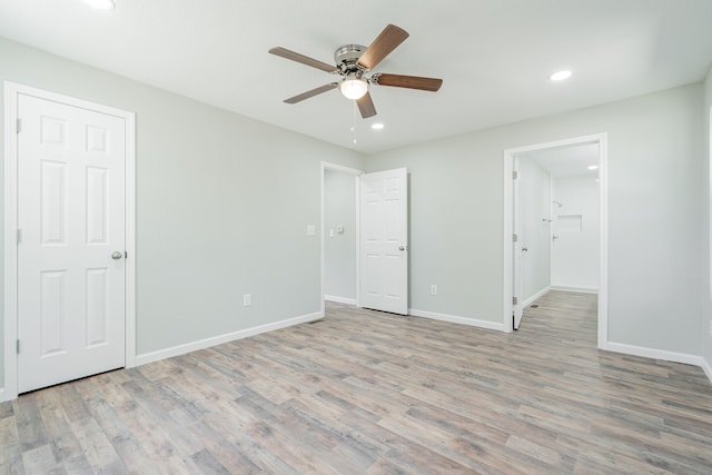
[[[344,226],[344,232],[338,232],[338,226]],[[356,177],[354,175],[324,170],[324,294],[355,300]]]

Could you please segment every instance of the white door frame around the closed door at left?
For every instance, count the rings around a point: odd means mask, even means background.
[[[0,400],[18,397],[18,96],[27,95],[123,119],[126,125],[126,360],[136,366],[136,119],[134,112],[4,81],[3,353],[4,389]]]

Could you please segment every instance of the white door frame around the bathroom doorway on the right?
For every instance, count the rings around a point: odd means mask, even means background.
[[[575,137],[526,147],[504,150],[504,300],[503,326],[512,331],[512,284],[513,284],[513,179],[514,157],[522,154],[572,147],[578,145],[599,145],[599,200],[601,207],[600,222],[600,269],[599,269],[599,348],[604,348],[609,340],[609,149],[607,133]]]

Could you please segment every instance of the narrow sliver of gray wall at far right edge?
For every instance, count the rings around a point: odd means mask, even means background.
[[[710,290],[710,253],[712,251],[712,174],[710,170],[712,161],[712,137],[710,137],[710,127],[712,117],[710,117],[710,108],[712,108],[712,69],[708,72],[706,80],[704,81],[704,172],[701,175],[704,188],[704,207],[702,219],[702,234],[704,236],[703,247],[703,270],[702,270],[702,318],[700,319],[700,326],[702,327],[700,334],[702,335],[702,357],[708,364],[708,368],[712,368],[712,291]],[[712,369],[711,369],[712,370]],[[712,375],[709,374],[710,377]]]

